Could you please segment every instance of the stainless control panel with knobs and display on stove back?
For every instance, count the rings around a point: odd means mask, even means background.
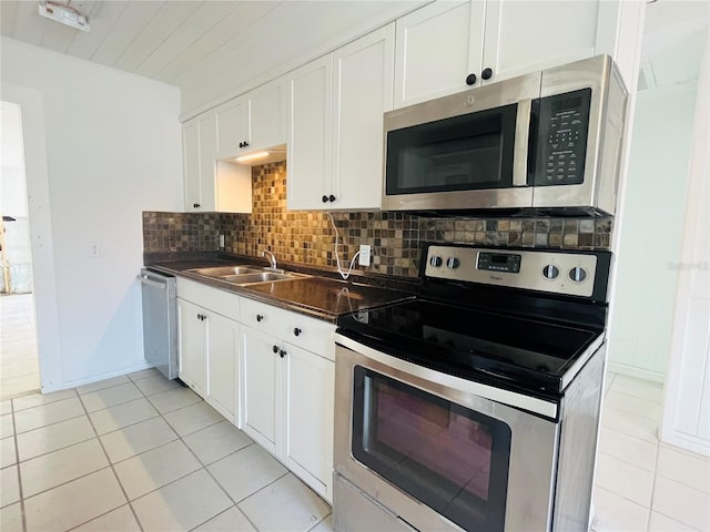
[[[425,269],[439,279],[584,297],[591,297],[596,274],[594,254],[446,245],[429,246]]]

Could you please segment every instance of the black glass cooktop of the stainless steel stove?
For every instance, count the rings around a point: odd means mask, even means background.
[[[602,332],[425,299],[338,318],[338,332],[388,355],[478,380],[560,392]]]

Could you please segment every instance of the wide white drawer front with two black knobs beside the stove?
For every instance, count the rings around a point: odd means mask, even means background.
[[[242,323],[322,357],[335,360],[335,325],[272,305],[242,298]]]

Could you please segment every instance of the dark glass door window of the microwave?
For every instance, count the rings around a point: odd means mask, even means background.
[[[517,104],[387,133],[387,194],[513,185]]]

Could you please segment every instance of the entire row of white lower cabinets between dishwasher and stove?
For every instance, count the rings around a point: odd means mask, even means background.
[[[178,319],[180,378],[332,501],[335,326],[184,278]]]

